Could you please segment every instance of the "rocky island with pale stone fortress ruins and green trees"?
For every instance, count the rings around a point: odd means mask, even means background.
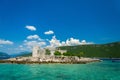
[[[17,64],[49,64],[49,63],[63,63],[63,64],[86,64],[90,62],[100,62],[97,58],[85,58],[78,56],[64,56],[67,50],[60,50],[58,48],[40,48],[34,46],[32,56],[16,57],[10,59],[0,60],[0,63],[17,63]]]

